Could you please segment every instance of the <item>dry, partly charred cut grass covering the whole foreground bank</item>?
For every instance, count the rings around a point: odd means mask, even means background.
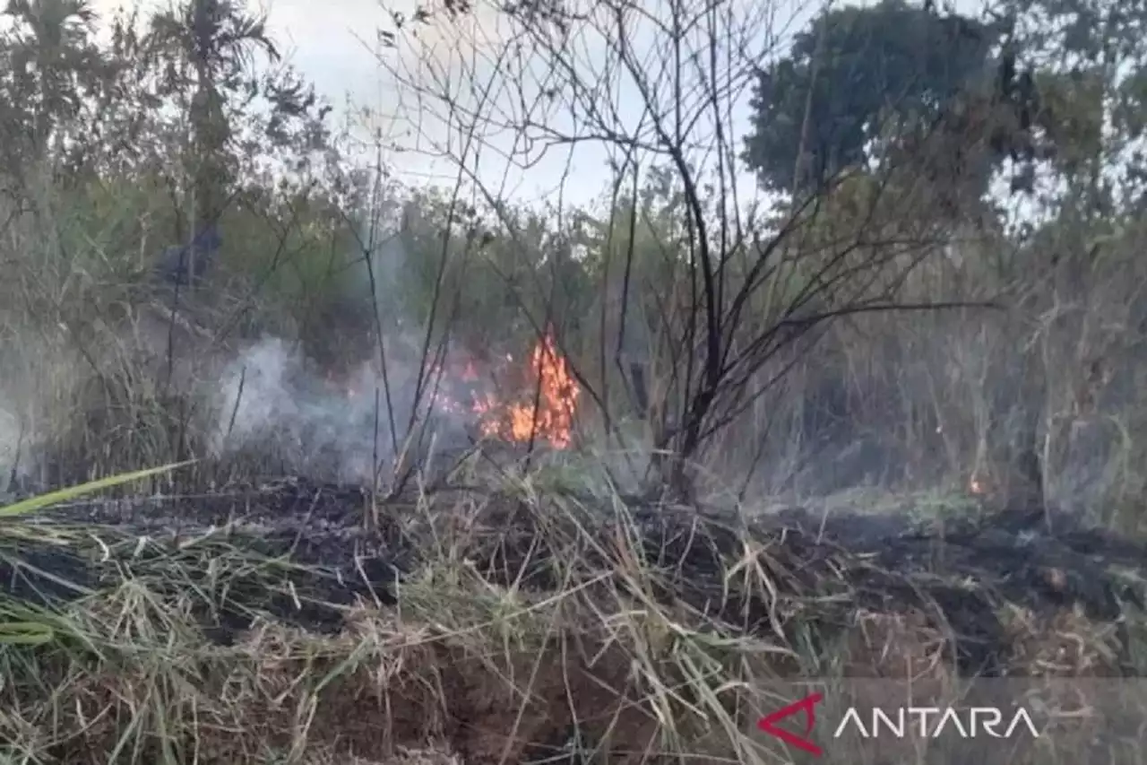
[[[530,476],[412,497],[354,543],[333,526],[359,524],[361,505],[338,496],[311,497],[326,520],[298,530],[305,542],[266,525],[209,524],[228,502],[263,502],[264,524],[289,513],[274,501],[188,501],[170,516],[186,516],[174,540],[163,532],[170,517],[109,524],[92,508],[48,525],[5,520],[9,577],[22,559],[86,588],[9,588],[2,601],[9,760],[773,762],[783,755],[755,720],[778,705],[771,690],[801,678],[951,686],[975,674],[963,644],[977,636],[990,639],[981,648],[996,675],[1138,671],[1133,608],[1087,616],[1099,596],[1052,597],[1077,573],[1075,538],[1041,543],[1063,548],[1062,570],[1039,557],[1021,565],[982,528],[953,521],[952,554],[923,561],[914,551],[938,536],[905,541],[908,526],[898,542],[868,540],[883,548],[875,554],[832,540],[856,518],[818,541],[793,519],[731,526],[696,509],[572,496]],[[373,552],[356,555],[365,539]],[[1098,555],[1107,577],[1121,554]],[[370,563],[384,558],[401,563],[379,573]],[[1062,574],[1058,590],[1040,589],[1048,572]],[[861,750],[861,762],[880,762]],[[1029,755],[1014,759],[1046,762]]]

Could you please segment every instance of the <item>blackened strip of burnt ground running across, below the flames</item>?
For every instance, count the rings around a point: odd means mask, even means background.
[[[460,518],[465,534],[457,532]],[[0,561],[7,590],[39,603],[77,597],[64,581],[99,588],[147,575],[172,555],[193,572],[196,561],[218,567],[241,559],[224,608],[201,613],[208,634],[224,643],[258,613],[329,633],[360,598],[392,605],[403,580],[432,563],[432,540],[446,535],[487,580],[547,592],[614,570],[622,534],[655,572],[663,602],[684,602],[759,634],[787,628],[786,611],[799,612],[799,623],[821,635],[846,629],[858,610],[922,613],[952,634],[959,669],[970,674],[1005,671],[1004,604],[1037,616],[1068,609],[1122,625],[1129,609],[1144,608],[1147,566],[1142,543],[1045,509],[943,524],[789,509],[747,523],[712,509],[637,500],[619,510],[591,497],[539,504],[474,490],[443,490],[429,505],[375,505],[364,489],[301,478],[163,501],[75,504],[37,523],[83,524],[101,540],[80,548],[25,542]],[[777,589],[772,602],[752,587],[728,586],[726,572],[750,555],[751,569]],[[820,605],[809,610],[809,602]],[[1137,672],[1122,654],[1108,671]]]

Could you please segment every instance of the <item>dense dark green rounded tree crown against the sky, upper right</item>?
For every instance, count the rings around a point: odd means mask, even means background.
[[[888,122],[934,124],[982,85],[996,30],[904,0],[827,10],[762,70],[744,160],[766,187],[791,192],[861,165]]]

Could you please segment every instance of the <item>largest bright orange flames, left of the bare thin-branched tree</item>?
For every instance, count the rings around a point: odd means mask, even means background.
[[[574,435],[574,414],[582,394],[569,364],[546,335],[530,355],[532,389],[524,403],[499,402],[487,393],[474,402],[481,417],[482,434],[507,441],[548,441],[556,449],[567,448]]]

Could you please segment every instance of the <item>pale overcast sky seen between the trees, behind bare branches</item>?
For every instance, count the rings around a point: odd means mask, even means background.
[[[592,0],[576,1],[590,3]],[[687,8],[700,7],[700,0],[677,1]],[[142,2],[145,7],[165,5],[163,0]],[[756,30],[751,39],[741,41],[741,48],[762,51],[799,30],[819,2],[726,0],[718,7],[720,13],[729,14],[734,25],[740,22]],[[95,0],[93,5],[99,13],[107,14],[125,3],[123,0]],[[648,7],[637,0],[631,5],[645,15],[639,17],[634,11],[627,23],[632,30],[633,55],[642,63],[639,77],[657,90],[658,95],[653,100],[668,108],[665,105],[673,100],[673,86],[668,76],[658,77],[657,72],[662,62],[671,57],[665,48],[668,34],[664,28],[658,31],[670,5],[666,0],[654,0]],[[968,5],[972,3],[963,0],[958,7]],[[510,124],[520,124],[525,115],[532,115],[533,122],[543,125],[531,131],[535,139],[545,137],[546,125],[563,132],[584,133],[587,130],[574,126],[569,105],[561,99],[548,107],[547,114],[536,113],[535,107],[541,101],[537,92],[543,86],[529,84],[526,79],[526,92],[523,93],[521,72],[533,72],[540,79],[554,56],[523,53],[520,57],[510,55],[509,63],[506,60],[496,63],[496,59],[515,52],[507,39],[510,24],[494,9],[491,0],[476,0],[475,6],[475,10],[457,25],[445,22],[431,24],[422,29],[418,39],[407,37],[398,49],[380,46],[377,31],[390,29],[390,24],[389,15],[379,0],[268,0],[263,7],[268,11],[272,33],[290,62],[333,102],[336,115],[346,116],[344,107],[348,102],[373,111],[373,126],[381,131],[384,142],[390,146],[383,159],[399,180],[412,184],[438,181],[451,186],[459,172],[458,159],[463,154],[462,134],[468,131],[461,130],[457,121],[453,121],[453,126],[450,125],[451,121],[445,118],[444,95],[473,107],[478,94],[485,94],[483,114],[496,119],[501,117],[501,122]],[[405,8],[408,14],[413,2],[397,0],[389,7]],[[608,23],[609,20],[606,21]],[[643,130],[637,128],[646,114],[639,80],[632,74],[614,74],[611,65],[615,59],[609,55],[610,44],[598,29],[601,28],[586,24],[572,32],[568,41],[559,47],[559,57],[574,65],[579,78],[590,83],[600,82],[609,75],[609,94],[588,101],[601,109],[612,107],[616,115],[611,115],[610,121],[622,123],[627,136],[640,136],[651,141],[653,133],[648,126]],[[694,49],[704,49],[705,57],[708,49],[704,41],[711,37],[715,36],[700,32],[694,36]],[[756,56],[746,57],[731,49],[732,42],[724,46],[728,42],[725,39],[727,36],[716,37],[723,44],[718,52],[721,61],[733,62],[732,65],[718,62],[717,70],[724,74],[732,68],[740,77],[732,84],[733,88],[740,87],[739,93],[726,99],[726,114],[735,133],[732,141],[739,153],[741,137],[748,126],[747,85],[750,78],[744,71],[744,62]],[[655,52],[658,46],[661,51]],[[701,69],[709,70],[711,67],[704,62]],[[718,87],[724,90],[724,85]],[[711,113],[711,109],[702,107],[696,96],[692,99],[692,105],[703,115]],[[365,125],[360,115],[352,119],[357,125]],[[713,144],[711,128],[712,119],[703,116],[689,133],[702,145],[694,154],[695,161],[710,168],[716,167],[716,160],[711,152],[707,154],[703,149]],[[360,131],[360,134],[367,133]],[[561,192],[567,202],[585,203],[604,191],[610,178],[606,168],[610,153],[606,145],[600,141],[579,142],[571,154],[569,146],[543,150],[541,144],[536,141],[524,155],[509,160],[507,155],[514,152],[515,138],[518,138],[518,150],[522,152],[520,136],[521,131],[508,128],[487,133],[481,141],[484,146],[481,159],[475,160],[473,153],[466,156],[466,167],[479,168],[479,178],[492,187],[496,196],[556,201]],[[442,156],[443,152],[447,156]],[[436,154],[439,156],[435,157]],[[528,169],[518,167],[523,161],[529,162]],[[738,188],[743,203],[757,191],[743,167],[738,170],[741,176]]]

